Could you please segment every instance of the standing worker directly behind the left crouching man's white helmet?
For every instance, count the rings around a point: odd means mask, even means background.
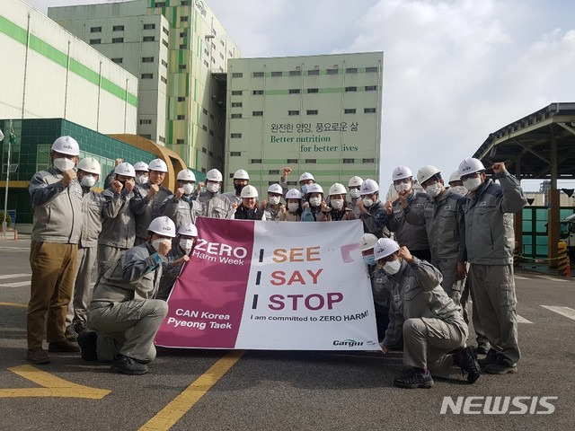
[[[164,215],[165,200],[173,195],[162,185],[168,172],[167,164],[162,159],[154,159],[147,167],[148,182],[137,184],[134,198],[130,200],[130,207],[136,215],[136,245],[147,241],[147,226],[156,217]]]

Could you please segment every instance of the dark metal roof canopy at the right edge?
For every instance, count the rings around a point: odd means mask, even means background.
[[[575,178],[575,102],[552,103],[500,128],[473,157],[486,166],[505,162],[521,180],[551,179],[556,189],[556,180]]]

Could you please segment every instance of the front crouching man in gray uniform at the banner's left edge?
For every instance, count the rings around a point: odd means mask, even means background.
[[[147,241],[126,251],[94,287],[88,315],[93,331],[78,337],[84,360],[111,361],[117,373],[147,373],[146,364],[155,359],[155,334],[168,312],[155,296],[175,236],[172,220],[155,218]]]

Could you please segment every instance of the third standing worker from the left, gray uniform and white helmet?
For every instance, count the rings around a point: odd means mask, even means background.
[[[102,191],[108,206],[104,210],[102,233],[98,238],[98,280],[119,260],[122,253],[134,246],[136,216],[130,202],[134,198],[136,172],[128,163],[114,169],[111,186]]]

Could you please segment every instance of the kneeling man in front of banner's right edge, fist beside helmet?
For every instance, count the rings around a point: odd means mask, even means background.
[[[407,247],[382,238],[375,247],[377,265],[389,275],[389,326],[381,343],[384,353],[403,332],[403,374],[394,378],[400,388],[431,388],[432,374],[448,375],[461,367],[467,382],[480,376],[473,347],[464,347],[468,329],[456,305],[441,287],[439,270],[411,256]],[[431,373],[429,372],[431,371]]]

